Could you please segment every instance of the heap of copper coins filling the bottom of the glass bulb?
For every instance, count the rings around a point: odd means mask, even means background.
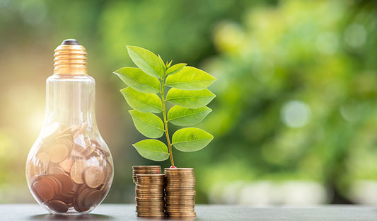
[[[52,212],[86,212],[98,205],[112,180],[110,153],[84,135],[86,123],[53,123],[28,160],[30,190]]]

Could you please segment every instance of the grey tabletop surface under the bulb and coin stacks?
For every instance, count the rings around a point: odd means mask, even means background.
[[[196,205],[195,220],[377,220],[377,207],[324,205],[318,207],[268,207]],[[102,204],[89,215],[50,215],[37,204],[0,204],[0,220],[149,220],[135,215],[134,204]],[[169,219],[170,220],[170,219]]]

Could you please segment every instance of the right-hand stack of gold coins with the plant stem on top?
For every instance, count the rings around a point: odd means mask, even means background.
[[[196,217],[194,169],[166,168],[165,175],[168,217]]]

